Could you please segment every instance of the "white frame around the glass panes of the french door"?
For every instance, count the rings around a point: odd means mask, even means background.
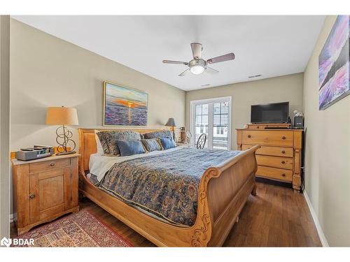
[[[228,150],[231,150],[232,145],[231,145],[231,123],[232,123],[232,96],[222,96],[222,97],[215,97],[213,99],[200,99],[200,100],[191,100],[190,101],[190,133],[192,133],[192,141],[191,143],[195,144],[195,105],[200,105],[203,103],[209,103],[209,119],[208,119],[208,136],[213,137],[213,129],[214,125],[213,122],[210,119],[213,119],[213,106],[210,104],[218,103],[218,102],[228,102]],[[210,124],[211,122],[211,124]],[[212,141],[209,142],[208,138],[208,148],[212,149]]]

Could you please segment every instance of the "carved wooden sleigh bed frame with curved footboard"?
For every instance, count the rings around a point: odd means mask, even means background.
[[[97,152],[94,130],[78,129],[80,193],[160,247],[222,246],[248,196],[256,194],[255,151],[260,146],[252,147],[243,154],[232,157],[219,166],[210,167],[204,172],[198,190],[197,219],[193,226],[179,227],[167,224],[123,203],[95,187],[87,179],[85,171],[89,169],[90,154]],[[159,131],[159,129],[132,130],[139,133]]]

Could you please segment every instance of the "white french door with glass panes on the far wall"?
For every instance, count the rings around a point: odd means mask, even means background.
[[[191,101],[190,132],[196,144],[202,133],[207,135],[206,148],[230,150],[231,96]]]

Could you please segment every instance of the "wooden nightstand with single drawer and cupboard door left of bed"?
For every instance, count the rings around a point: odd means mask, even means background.
[[[32,227],[78,212],[79,154],[31,161],[12,160],[18,235]]]

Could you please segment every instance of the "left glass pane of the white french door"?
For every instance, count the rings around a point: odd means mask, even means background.
[[[195,144],[202,133],[207,134],[209,131],[209,103],[195,105]],[[204,147],[208,147],[208,141]]]

